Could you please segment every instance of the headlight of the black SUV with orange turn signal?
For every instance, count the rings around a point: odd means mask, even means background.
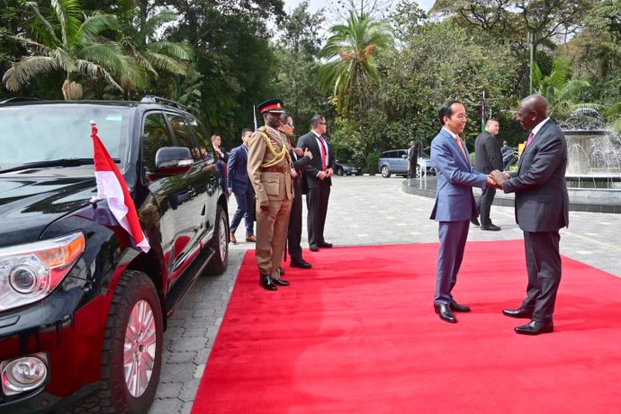
[[[0,311],[43,299],[85,249],[82,233],[0,248]]]

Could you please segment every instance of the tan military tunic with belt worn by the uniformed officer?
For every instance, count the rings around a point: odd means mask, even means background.
[[[267,136],[267,138],[266,138]],[[252,134],[248,141],[247,173],[259,202],[282,201],[293,199],[291,166],[285,157],[276,167],[283,167],[283,172],[263,172],[262,166],[275,159],[267,147],[269,139],[276,152],[289,148],[284,133],[272,128],[261,127]]]

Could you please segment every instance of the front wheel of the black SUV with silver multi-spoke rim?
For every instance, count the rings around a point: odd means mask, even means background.
[[[138,414],[155,398],[162,367],[162,308],[153,282],[126,270],[105,327],[100,412]]]

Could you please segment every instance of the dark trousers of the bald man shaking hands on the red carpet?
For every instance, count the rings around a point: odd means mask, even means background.
[[[527,298],[522,308],[533,310],[533,320],[549,322],[554,313],[556,293],[561,284],[561,255],[557,231],[524,232],[527,258]]]

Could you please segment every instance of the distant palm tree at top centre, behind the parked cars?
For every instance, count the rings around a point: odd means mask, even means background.
[[[365,99],[366,88],[379,78],[374,56],[392,42],[390,25],[351,12],[347,24],[332,26],[329,31],[320,51],[320,57],[328,60],[320,68],[320,87],[332,94],[338,112],[352,112]]]

